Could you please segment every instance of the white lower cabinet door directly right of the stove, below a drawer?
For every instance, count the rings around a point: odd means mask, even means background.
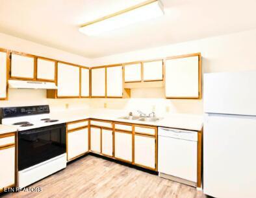
[[[68,133],[68,160],[88,151],[88,128]]]

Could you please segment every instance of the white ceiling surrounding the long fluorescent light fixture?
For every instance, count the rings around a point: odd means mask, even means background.
[[[256,28],[255,0],[162,0],[164,17],[102,36],[79,25],[145,0],[0,0],[0,32],[97,58]]]

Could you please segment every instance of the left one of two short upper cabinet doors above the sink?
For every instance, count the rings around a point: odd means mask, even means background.
[[[125,65],[125,82],[140,82],[142,80],[141,63]]]

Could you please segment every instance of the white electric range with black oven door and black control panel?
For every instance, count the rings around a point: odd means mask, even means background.
[[[0,108],[1,124],[18,130],[19,188],[66,168],[66,124],[49,113],[49,105]]]

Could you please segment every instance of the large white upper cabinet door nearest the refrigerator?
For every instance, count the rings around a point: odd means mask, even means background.
[[[199,58],[166,60],[166,98],[198,98]]]

